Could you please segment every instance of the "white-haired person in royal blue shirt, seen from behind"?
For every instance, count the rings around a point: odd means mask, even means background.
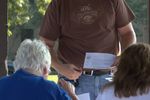
[[[14,61],[15,73],[0,79],[0,100],[70,100],[62,88],[44,79],[50,65],[49,49],[42,41],[23,41]]]

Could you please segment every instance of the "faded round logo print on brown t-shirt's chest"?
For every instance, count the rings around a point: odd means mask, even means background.
[[[98,11],[93,10],[90,5],[81,6],[73,13],[73,20],[82,24],[92,24],[98,16]]]

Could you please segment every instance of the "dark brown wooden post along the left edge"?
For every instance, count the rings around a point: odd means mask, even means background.
[[[0,0],[0,77],[7,75],[7,0]]]

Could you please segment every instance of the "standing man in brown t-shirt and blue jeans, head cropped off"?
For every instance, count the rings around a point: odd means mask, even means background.
[[[97,77],[101,77],[104,72],[96,75],[91,74],[95,70],[90,70],[91,76],[83,74],[85,54],[93,52],[117,55],[119,42],[121,50],[135,43],[136,36],[131,24],[133,19],[134,15],[124,0],[52,0],[40,36],[50,48],[52,67],[72,80],[80,76],[77,93],[89,92],[91,100],[94,100],[97,92],[94,94],[91,92],[94,89],[89,87],[95,87],[93,84],[98,83]],[[56,40],[57,51],[53,49]],[[87,90],[82,88],[82,81],[86,81],[82,79],[85,78],[89,81],[85,85]]]

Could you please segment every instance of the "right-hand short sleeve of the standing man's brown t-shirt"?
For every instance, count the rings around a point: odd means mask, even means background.
[[[116,12],[116,26],[117,28],[129,24],[135,15],[129,8],[125,0],[114,0],[114,7]]]

